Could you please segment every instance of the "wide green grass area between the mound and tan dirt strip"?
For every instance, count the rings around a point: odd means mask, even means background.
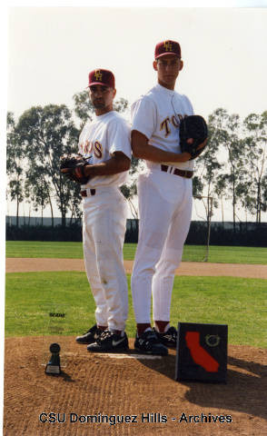
[[[171,321],[226,323],[230,343],[267,347],[266,300],[266,280],[175,277]],[[134,337],[130,291],[129,304],[126,332]],[[84,272],[6,274],[6,336],[76,335],[93,324],[94,299]]]

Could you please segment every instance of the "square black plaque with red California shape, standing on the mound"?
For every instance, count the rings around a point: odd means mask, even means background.
[[[176,381],[226,383],[228,326],[178,322]]]

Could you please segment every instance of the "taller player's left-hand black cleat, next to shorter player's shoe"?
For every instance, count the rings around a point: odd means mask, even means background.
[[[140,336],[137,336],[136,333],[134,348],[144,354],[155,354],[159,356],[166,356],[168,354],[168,349],[159,341],[157,335],[152,330],[143,332]]]

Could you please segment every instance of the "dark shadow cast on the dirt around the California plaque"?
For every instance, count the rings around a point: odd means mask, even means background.
[[[267,367],[228,356],[227,383],[204,383],[199,381],[175,381],[176,356],[169,354],[161,360],[140,360],[147,368],[160,372],[165,377],[187,386],[184,398],[202,407],[240,411],[267,419],[264,398],[267,391]],[[229,365],[235,366],[230,369]]]

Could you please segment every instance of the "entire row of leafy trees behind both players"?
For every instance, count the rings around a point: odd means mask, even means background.
[[[124,99],[114,104],[122,113],[127,107]],[[41,210],[42,216],[49,205],[52,219],[56,203],[63,225],[67,213],[73,220],[81,217],[80,187],[66,181],[59,162],[62,154],[77,151],[81,128],[93,114],[86,91],[74,94],[74,111],[64,104],[49,104],[32,107],[17,121],[14,114],[7,114],[7,197],[16,202],[17,220],[22,202]],[[240,209],[252,213],[260,223],[267,208],[267,111],[250,114],[242,121],[239,115],[219,108],[209,116],[208,127],[209,143],[196,160],[193,177],[193,194],[203,201],[206,220],[211,219],[214,208],[221,207],[223,221],[223,202],[231,199],[233,223]],[[134,217],[135,181],[141,165],[132,159],[131,183],[122,187]]]

